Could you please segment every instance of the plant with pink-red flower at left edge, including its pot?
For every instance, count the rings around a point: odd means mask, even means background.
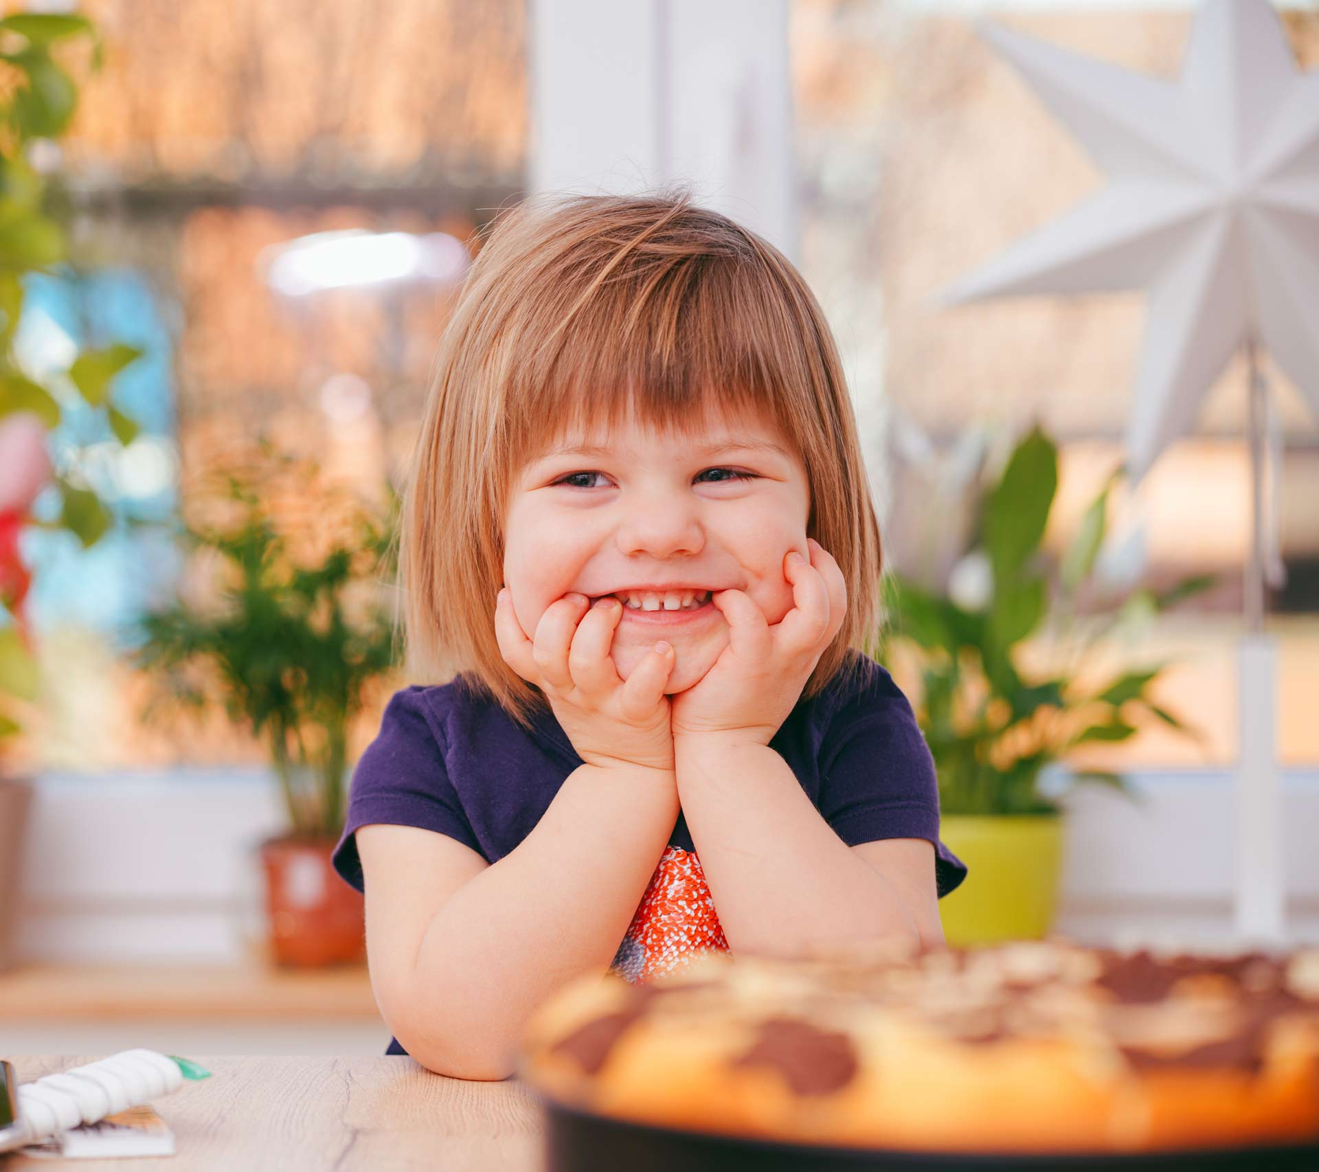
[[[17,958],[16,928],[21,904],[29,811],[34,786],[16,773],[13,741],[24,732],[29,709],[40,700],[41,678],[25,604],[32,572],[21,555],[28,529],[66,530],[84,548],[111,526],[111,513],[79,472],[77,461],[55,471],[47,434],[66,419],[66,394],[77,402],[78,434],[88,442],[128,446],[137,425],[111,398],[115,376],[137,359],[135,347],[80,348],[67,369],[26,369],[15,348],[24,320],[32,273],[63,276],[71,262],[61,224],[58,175],[40,160],[69,128],[78,84],[67,58],[90,47],[86,66],[102,63],[95,26],[82,16],[17,12],[0,18],[0,57],[5,84],[0,98],[0,970]],[[58,384],[57,393],[51,392]],[[34,515],[49,485],[50,515]],[[49,494],[46,494],[49,496]]]

